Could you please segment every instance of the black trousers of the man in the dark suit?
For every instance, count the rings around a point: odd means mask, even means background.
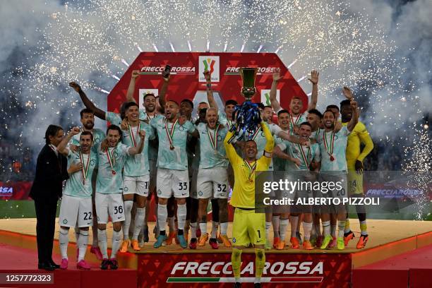
[[[39,263],[43,263],[52,260],[57,200],[54,198],[35,200],[35,210],[37,258]]]

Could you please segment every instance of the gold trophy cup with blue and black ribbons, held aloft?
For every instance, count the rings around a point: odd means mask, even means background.
[[[246,101],[237,105],[234,110],[234,118],[236,119],[236,125],[233,126],[235,128],[234,135],[239,136],[243,132],[242,134],[247,139],[253,137],[261,121],[258,105],[251,102],[252,97],[256,94],[256,73],[258,73],[258,68],[240,68],[240,76],[243,80],[241,95],[246,98]]]

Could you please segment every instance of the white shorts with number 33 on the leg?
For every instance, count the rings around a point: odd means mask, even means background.
[[[175,198],[189,197],[188,170],[157,169],[157,197]]]

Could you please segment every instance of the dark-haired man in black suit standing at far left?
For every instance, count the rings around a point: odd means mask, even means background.
[[[59,268],[52,260],[52,246],[57,201],[61,198],[62,182],[68,179],[67,159],[57,152],[64,137],[63,128],[49,125],[45,132],[46,144],[37,157],[35,180],[30,197],[35,200],[38,268]]]

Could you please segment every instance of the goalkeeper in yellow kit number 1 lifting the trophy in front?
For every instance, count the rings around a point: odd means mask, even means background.
[[[234,189],[232,191],[231,205],[235,208],[234,221],[232,223],[232,271],[236,278],[234,287],[241,287],[241,249],[253,244],[255,247],[255,286],[260,287],[260,278],[263,275],[265,264],[265,213],[255,212],[255,173],[256,171],[267,171],[272,161],[273,137],[268,125],[260,122],[261,129],[267,140],[264,155],[258,155],[257,146],[254,140],[246,140],[244,143],[244,158],[237,155],[237,152],[229,139],[233,133],[229,131],[224,140],[227,157],[234,170]]]

